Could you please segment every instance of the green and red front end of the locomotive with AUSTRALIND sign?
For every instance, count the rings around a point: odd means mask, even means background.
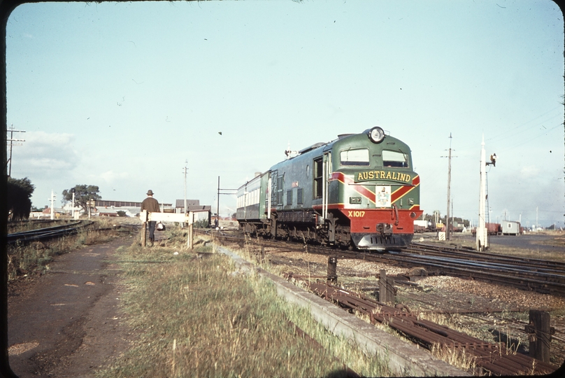
[[[349,223],[352,244],[372,250],[408,246],[423,212],[410,148],[373,127],[335,141],[328,161],[333,167],[322,211],[337,211],[338,223]]]

